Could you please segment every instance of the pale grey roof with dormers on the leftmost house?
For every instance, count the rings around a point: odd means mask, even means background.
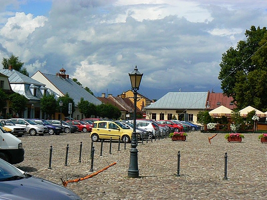
[[[26,76],[14,69],[0,69],[0,73],[3,73],[9,77],[8,80],[10,84],[34,84],[38,86],[45,86],[45,84],[42,84],[39,81],[36,81],[35,79],[30,78],[29,76]]]

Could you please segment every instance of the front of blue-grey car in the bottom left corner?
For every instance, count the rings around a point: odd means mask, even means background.
[[[0,199],[81,200],[71,190],[32,176],[0,159]]]

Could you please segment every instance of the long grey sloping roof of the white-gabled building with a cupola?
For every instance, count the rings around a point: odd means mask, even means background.
[[[42,73],[42,72],[41,72]],[[42,73],[49,82],[51,82],[56,88],[58,88],[64,95],[66,93],[69,94],[71,98],[73,98],[74,104],[78,105],[81,101],[81,97],[84,98],[85,101],[88,101],[95,105],[102,104],[101,101],[97,97],[94,97],[92,94],[87,92],[80,85],[72,81],[71,78],[62,78],[61,76],[56,76],[52,74]]]

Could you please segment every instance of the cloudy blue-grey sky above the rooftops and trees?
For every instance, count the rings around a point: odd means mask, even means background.
[[[0,59],[18,56],[30,76],[64,67],[94,95],[221,92],[222,54],[267,24],[265,0],[0,0]],[[2,65],[2,64],[0,64]]]

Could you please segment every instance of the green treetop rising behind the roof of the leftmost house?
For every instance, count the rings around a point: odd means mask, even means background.
[[[3,58],[2,65],[4,69],[8,69],[9,66],[12,66],[12,69],[21,72],[22,74],[29,76],[27,69],[23,67],[24,63],[22,63],[18,57],[14,56],[13,54],[9,58]]]

